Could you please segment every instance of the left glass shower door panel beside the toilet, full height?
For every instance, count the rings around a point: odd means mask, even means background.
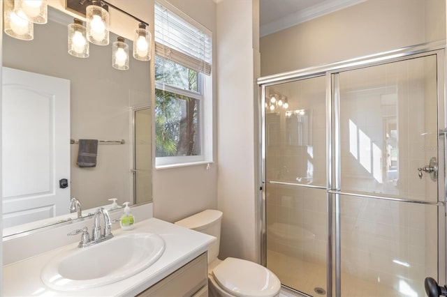
[[[266,264],[286,287],[327,291],[326,82],[265,88]]]

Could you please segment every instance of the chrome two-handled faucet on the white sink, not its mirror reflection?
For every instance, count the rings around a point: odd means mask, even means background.
[[[100,218],[101,215],[104,218],[104,233],[102,233],[101,230],[101,224],[100,224]],[[107,241],[108,239],[113,237],[112,231],[111,231],[111,225],[112,222],[110,221],[110,216],[108,211],[106,211],[104,208],[100,207],[96,209],[95,216],[94,216],[94,224],[93,224],[93,231],[91,234],[91,238],[89,238],[89,232],[87,230],[87,227],[84,227],[82,229],[74,230],[68,233],[67,235],[81,235],[81,241],[78,245],[79,248],[85,248],[90,245],[94,245],[96,243],[101,243],[103,241]]]

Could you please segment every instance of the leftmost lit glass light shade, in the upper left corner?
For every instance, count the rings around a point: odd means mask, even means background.
[[[5,2],[6,3],[6,2]],[[5,6],[4,13],[5,33],[20,40],[33,40],[34,24],[22,10],[14,10]]]

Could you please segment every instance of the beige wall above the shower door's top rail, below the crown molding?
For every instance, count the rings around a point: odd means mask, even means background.
[[[369,0],[261,38],[261,75],[446,38],[439,0]]]

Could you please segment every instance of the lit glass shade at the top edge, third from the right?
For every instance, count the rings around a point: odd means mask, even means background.
[[[87,40],[94,45],[109,44],[109,13],[98,1],[92,1],[85,10]]]

